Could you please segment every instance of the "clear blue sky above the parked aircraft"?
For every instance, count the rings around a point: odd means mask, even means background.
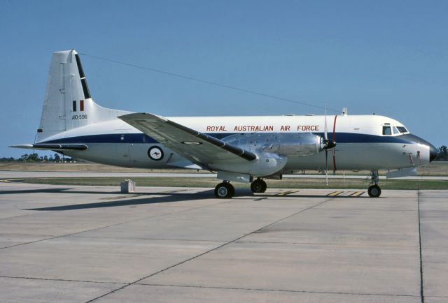
[[[0,0],[1,156],[27,150],[51,53],[78,52],[349,114],[448,145],[447,1]],[[323,114],[81,56],[94,101],[165,116]]]

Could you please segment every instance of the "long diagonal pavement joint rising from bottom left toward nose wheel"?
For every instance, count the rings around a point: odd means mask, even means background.
[[[119,290],[122,290],[122,289],[124,289],[124,288],[127,288],[128,286],[132,286],[132,285],[134,285],[134,284],[136,284],[136,283],[139,283],[140,281],[142,281],[142,280],[144,280],[144,279],[148,279],[148,278],[150,278],[151,276],[155,276],[156,274],[160,274],[161,272],[165,272],[165,271],[167,271],[168,269],[172,269],[172,268],[174,268],[174,267],[176,267],[176,266],[182,265],[183,263],[187,263],[187,262],[189,262],[189,261],[191,261],[191,260],[195,260],[196,258],[199,258],[199,257],[201,257],[201,256],[204,256],[204,255],[206,255],[207,253],[211,253],[212,251],[216,251],[216,250],[218,250],[218,249],[221,249],[221,248],[223,248],[224,246],[227,246],[228,244],[232,244],[232,243],[234,243],[234,242],[237,242],[239,239],[242,239],[242,238],[244,238],[244,237],[247,237],[248,235],[251,235],[251,234],[253,234],[254,232],[258,232],[259,230],[262,230],[263,228],[268,228],[269,226],[272,226],[272,225],[274,225],[274,224],[276,224],[276,223],[279,223],[279,222],[281,222],[281,221],[284,221],[284,220],[286,220],[286,219],[289,219],[289,218],[291,218],[291,217],[293,217],[293,216],[296,216],[297,214],[301,214],[302,212],[306,212],[307,210],[312,209],[312,208],[314,208],[314,207],[318,207],[319,205],[323,205],[324,203],[329,202],[329,201],[331,201],[331,200],[332,200],[332,199],[323,200],[323,201],[321,201],[321,202],[318,202],[318,203],[315,204],[315,205],[311,205],[310,207],[301,209],[299,212],[295,212],[295,213],[290,214],[290,215],[288,215],[288,216],[286,216],[286,217],[283,217],[283,218],[281,218],[281,219],[278,219],[278,220],[276,220],[276,221],[274,221],[274,222],[272,222],[272,223],[267,224],[266,226],[262,226],[261,228],[258,228],[257,230],[253,230],[253,231],[248,232],[248,233],[246,233],[246,234],[244,234],[244,235],[242,235],[242,236],[240,236],[240,237],[237,237],[236,239],[233,239],[233,240],[231,240],[231,241],[229,241],[229,242],[225,242],[224,244],[218,245],[218,246],[214,247],[213,249],[209,249],[208,251],[204,251],[203,253],[200,253],[199,255],[193,256],[193,257],[191,257],[191,258],[188,258],[188,259],[186,259],[186,260],[183,260],[183,261],[181,261],[181,262],[179,262],[179,263],[176,263],[176,264],[171,265],[171,266],[169,266],[169,267],[166,267],[166,268],[164,268],[164,269],[160,269],[158,272],[153,272],[152,274],[149,274],[148,276],[144,276],[143,278],[138,279],[138,280],[136,280],[136,281],[134,281],[134,282],[132,282],[132,283],[128,283],[128,284],[125,285],[125,286],[122,286],[122,287],[117,288],[117,289],[115,289],[115,290],[111,290],[111,291],[109,291],[109,293],[105,293],[104,295],[100,295],[100,296],[98,296],[98,297],[94,297],[92,300],[89,300],[89,301],[87,301],[86,303],[90,303],[90,302],[93,302],[93,301],[95,301],[95,300],[101,299],[102,297],[106,297],[107,295],[111,295],[112,293],[116,293],[116,292],[118,292]]]

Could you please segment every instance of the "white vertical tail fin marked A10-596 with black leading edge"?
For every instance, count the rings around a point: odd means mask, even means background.
[[[125,113],[94,103],[75,50],[52,54],[37,142],[72,128],[115,119]]]

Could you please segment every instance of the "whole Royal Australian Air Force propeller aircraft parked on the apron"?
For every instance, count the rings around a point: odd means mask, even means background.
[[[375,114],[161,117],[102,108],[90,96],[75,50],[52,54],[36,141],[13,147],[128,168],[211,170],[223,180],[217,198],[235,195],[230,182],[251,183],[262,193],[264,179],[328,168],[371,170],[368,194],[379,197],[378,170],[415,168],[437,156],[402,123]]]

